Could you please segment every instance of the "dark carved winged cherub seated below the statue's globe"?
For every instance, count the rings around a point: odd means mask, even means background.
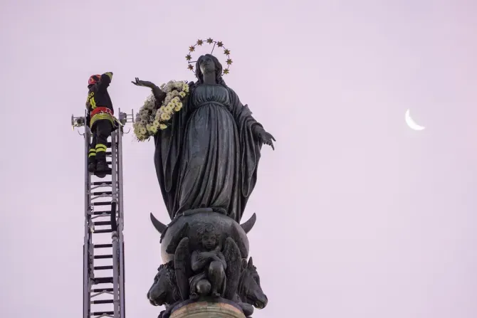
[[[221,233],[211,223],[197,230],[200,248],[189,254],[189,238],[177,245],[174,263],[177,285],[184,300],[199,296],[236,296],[241,272],[241,253],[232,238],[221,248]]]

